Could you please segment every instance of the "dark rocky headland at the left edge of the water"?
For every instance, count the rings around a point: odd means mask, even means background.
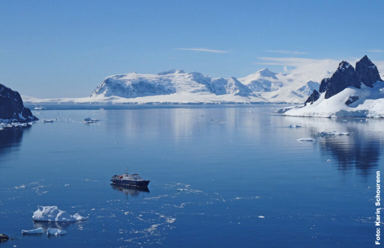
[[[29,108],[24,107],[17,91],[0,84],[0,119],[2,121],[26,122],[37,120]]]

